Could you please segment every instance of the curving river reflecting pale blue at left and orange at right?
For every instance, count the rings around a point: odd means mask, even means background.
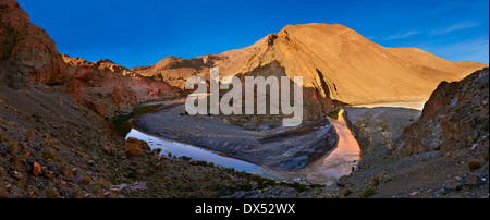
[[[321,159],[296,171],[275,171],[267,169],[247,161],[226,157],[218,151],[146,134],[134,127],[131,129],[126,138],[135,137],[145,140],[152,149],[160,148],[161,154],[164,155],[176,157],[185,156],[195,160],[212,162],[217,166],[233,168],[236,171],[256,173],[275,180],[330,185],[340,176],[350,174],[359,160],[359,145],[348,130],[342,113],[343,110],[339,112],[339,118],[336,120],[328,118],[339,134],[336,148]]]

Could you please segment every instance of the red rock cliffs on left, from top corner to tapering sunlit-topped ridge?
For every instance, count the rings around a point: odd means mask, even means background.
[[[180,89],[155,82],[109,60],[97,62],[59,53],[49,35],[29,22],[16,1],[0,8],[0,82],[11,88],[63,85],[68,94],[100,115],[131,111],[144,101],[176,96]]]

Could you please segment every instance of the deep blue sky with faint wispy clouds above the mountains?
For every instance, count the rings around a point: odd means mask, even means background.
[[[343,24],[385,47],[489,63],[488,0],[17,0],[71,57],[127,68],[238,49],[287,24]]]

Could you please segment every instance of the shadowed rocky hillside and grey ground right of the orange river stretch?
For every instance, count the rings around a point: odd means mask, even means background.
[[[488,99],[486,68],[460,82],[442,82],[414,122],[414,110],[351,109],[363,146],[359,169],[342,180],[347,197],[488,198]],[[366,122],[365,112],[382,115]],[[402,130],[403,124],[411,125]]]

